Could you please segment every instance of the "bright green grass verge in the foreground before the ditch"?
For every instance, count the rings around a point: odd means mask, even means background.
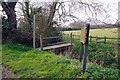
[[[117,78],[118,70],[87,64],[82,74],[78,60],[57,56],[51,52],[31,50],[21,44],[3,44],[2,64],[22,78]],[[116,79],[117,80],[117,79]]]

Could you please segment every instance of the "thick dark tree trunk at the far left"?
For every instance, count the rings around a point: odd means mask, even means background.
[[[2,8],[6,12],[8,17],[8,29],[10,31],[13,31],[17,28],[17,20],[16,20],[16,14],[15,14],[15,5],[16,2],[2,2]]]

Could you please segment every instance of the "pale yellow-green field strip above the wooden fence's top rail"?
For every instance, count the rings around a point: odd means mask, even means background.
[[[73,33],[74,35],[80,35],[80,30],[74,31],[63,31],[65,34]],[[90,29],[90,36],[98,36],[98,37],[110,37],[117,38],[118,37],[118,28],[103,28],[103,29]]]

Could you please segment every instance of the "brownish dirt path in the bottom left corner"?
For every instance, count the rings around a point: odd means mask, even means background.
[[[13,74],[11,71],[8,69],[2,67],[2,78],[17,78],[15,74]]]

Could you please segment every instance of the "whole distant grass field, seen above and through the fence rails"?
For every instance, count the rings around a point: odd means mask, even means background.
[[[89,36],[92,37],[99,37],[99,38],[103,38],[103,39],[98,39],[96,41],[96,38],[92,38],[91,42],[103,42],[105,41],[105,37],[106,37],[106,43],[107,44],[113,44],[113,45],[117,45],[119,43],[119,39],[118,38],[118,29],[119,28],[103,28],[103,29],[90,29],[90,33]],[[72,31],[63,31],[64,33],[64,37],[70,37],[70,33],[72,33],[72,37],[74,40],[80,40],[80,30],[72,30]],[[109,38],[116,38],[116,39],[109,39]],[[67,38],[68,39],[68,38]],[[89,38],[90,39],[90,38]],[[69,38],[70,41],[70,38]]]

